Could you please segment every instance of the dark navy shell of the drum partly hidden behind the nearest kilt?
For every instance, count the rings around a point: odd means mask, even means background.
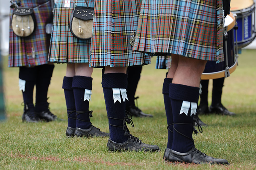
[[[228,62],[228,67],[231,67],[235,64],[236,59],[235,59],[235,49],[234,49],[234,32],[233,28],[227,32],[227,54],[226,54],[226,45],[225,45],[225,37],[223,39],[223,51],[224,51],[224,62],[220,62],[216,64],[216,61],[208,61],[205,66],[205,70],[203,72],[204,74],[209,74],[207,78],[202,78],[202,79],[215,79],[216,77],[210,76],[211,73],[214,75],[216,72],[225,72],[226,68],[226,63]],[[228,59],[227,59],[228,58]],[[223,74],[224,75],[224,74]],[[221,76],[224,77],[224,76]],[[221,78],[218,77],[218,78]]]

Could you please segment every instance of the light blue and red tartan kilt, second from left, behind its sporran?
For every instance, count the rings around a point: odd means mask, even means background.
[[[74,0],[77,6],[87,7],[85,0]],[[64,7],[65,0],[55,3],[53,28],[49,49],[48,61],[54,63],[89,63],[91,40],[81,40],[73,36],[69,29],[70,16],[74,4]],[[89,7],[94,6],[93,1],[88,1]]]

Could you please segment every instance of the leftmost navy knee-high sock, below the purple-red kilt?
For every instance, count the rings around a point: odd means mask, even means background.
[[[36,83],[36,67],[19,67],[19,78],[25,80],[25,91],[22,91],[23,101],[28,109],[34,109],[33,91]]]

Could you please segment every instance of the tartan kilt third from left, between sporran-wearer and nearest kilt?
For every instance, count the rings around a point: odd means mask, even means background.
[[[98,0],[94,5],[90,67],[150,64],[151,57],[135,52],[141,0]]]

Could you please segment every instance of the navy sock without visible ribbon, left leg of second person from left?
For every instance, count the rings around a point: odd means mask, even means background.
[[[64,77],[62,89],[64,89],[67,113],[68,113],[68,126],[72,128],[76,128],[77,119],[76,119],[76,104],[74,93],[72,89],[72,81],[73,77]]]

